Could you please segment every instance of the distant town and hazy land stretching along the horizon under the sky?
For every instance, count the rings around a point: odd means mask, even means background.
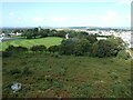
[[[115,37],[120,37],[123,39],[124,42],[126,42],[129,44],[129,48],[132,47],[132,42],[131,41],[131,30],[127,28],[98,28],[98,27],[62,27],[62,28],[51,28],[51,27],[47,27],[47,28],[41,28],[38,27],[38,29],[55,29],[55,30],[74,30],[74,31],[85,31],[89,34],[98,34],[98,40],[101,39],[106,39],[106,37],[109,36],[115,36]],[[14,37],[19,37],[23,33],[24,30],[27,29],[33,29],[33,28],[3,28],[0,30],[0,42],[4,41],[4,40],[12,40],[16,39]],[[68,36],[69,37],[69,36]]]

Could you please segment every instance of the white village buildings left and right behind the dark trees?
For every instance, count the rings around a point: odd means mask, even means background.
[[[39,27],[38,29],[41,29],[41,27]],[[123,41],[125,43],[129,44],[129,48],[132,47],[132,37],[131,36],[131,30],[114,30],[114,29],[110,29],[110,30],[106,30],[106,29],[55,29],[55,30],[74,30],[74,31],[85,31],[88,32],[89,34],[98,34],[98,40],[102,40],[102,39],[106,39],[106,37],[109,36],[114,36],[114,37],[119,37],[121,39],[123,39]],[[22,34],[22,32],[19,32],[19,31],[16,31],[14,32],[10,32],[10,33],[3,33],[1,32],[0,33],[0,42],[2,42],[2,40],[11,40],[13,37],[20,37]],[[65,36],[65,38],[68,39],[69,38],[69,33]],[[14,39],[14,38],[13,38]]]

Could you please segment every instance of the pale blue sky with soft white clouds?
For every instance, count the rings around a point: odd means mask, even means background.
[[[7,1],[0,27],[131,27],[130,1]]]

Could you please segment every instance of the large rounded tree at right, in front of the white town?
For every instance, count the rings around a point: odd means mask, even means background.
[[[119,51],[124,50],[124,42],[117,38],[111,38],[108,40],[100,40],[92,47],[93,56],[103,57],[115,57]]]

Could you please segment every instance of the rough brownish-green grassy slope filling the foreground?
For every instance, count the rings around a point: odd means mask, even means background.
[[[13,60],[12,60],[13,59]],[[24,67],[25,77],[10,74]],[[12,93],[10,84],[21,82],[22,90]],[[3,59],[3,97],[130,97],[131,61],[116,58],[90,58],[28,53]]]

